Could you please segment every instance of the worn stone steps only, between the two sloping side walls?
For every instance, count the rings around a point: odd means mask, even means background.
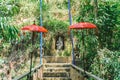
[[[43,65],[43,80],[71,80],[70,64],[45,63]]]

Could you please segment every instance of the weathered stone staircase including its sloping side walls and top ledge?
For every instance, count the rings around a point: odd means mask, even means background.
[[[32,69],[32,80],[103,80],[71,64],[71,62],[72,60],[69,57],[44,56],[43,64]],[[87,77],[84,77],[84,72]],[[30,72],[26,72],[21,76],[15,77],[13,80],[30,80],[29,75]]]

